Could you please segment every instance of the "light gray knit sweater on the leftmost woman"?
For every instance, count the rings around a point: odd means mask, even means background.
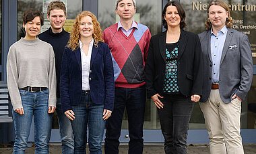
[[[49,88],[49,106],[56,106],[56,72],[53,47],[38,38],[15,42],[7,56],[7,86],[13,110],[22,107],[19,88]]]

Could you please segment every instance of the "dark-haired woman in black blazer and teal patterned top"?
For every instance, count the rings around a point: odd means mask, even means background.
[[[184,31],[185,11],[169,1],[162,11],[167,29],[150,40],[146,88],[158,108],[165,153],[187,153],[187,131],[194,102],[202,91],[199,37]]]

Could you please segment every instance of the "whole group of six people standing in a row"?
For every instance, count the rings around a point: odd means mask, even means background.
[[[135,0],[117,0],[115,6],[120,20],[103,32],[96,16],[82,11],[67,33],[61,1],[49,4],[51,27],[43,33],[42,13],[24,12],[26,35],[7,56],[13,153],[25,153],[32,117],[35,151],[49,153],[55,108],[62,153],[86,153],[87,140],[90,153],[102,153],[105,127],[105,153],[119,153],[126,108],[128,153],[141,154],[146,96],[158,108],[165,153],[187,153],[195,102],[205,117],[211,153],[244,153],[241,101],[251,86],[253,61],[247,35],[232,29],[228,5],[212,0],[207,30],[197,35],[183,29],[181,4],[169,1],[162,11],[166,31],[152,37],[133,20]]]

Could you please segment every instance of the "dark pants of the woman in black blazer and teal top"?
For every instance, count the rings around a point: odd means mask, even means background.
[[[158,115],[165,153],[187,153],[187,131],[194,102],[182,94],[165,95],[160,100],[164,104],[164,108],[158,109]]]

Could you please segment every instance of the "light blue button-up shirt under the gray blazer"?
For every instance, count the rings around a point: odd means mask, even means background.
[[[212,83],[217,84],[220,78],[220,60],[226,40],[228,28],[226,25],[215,35],[211,29]]]

